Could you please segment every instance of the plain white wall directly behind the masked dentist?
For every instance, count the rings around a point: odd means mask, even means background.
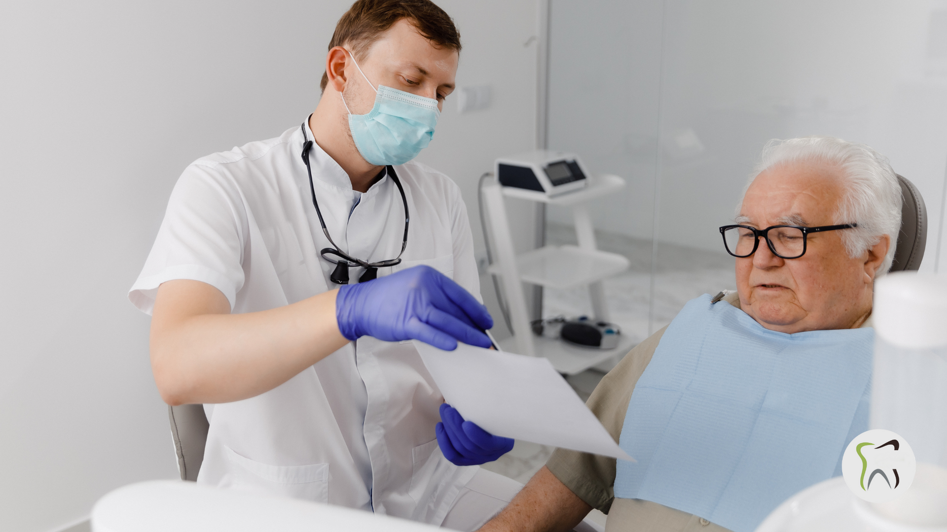
[[[125,294],[190,161],[313,110],[349,3],[0,4],[0,528],[57,530],[176,476],[149,320]],[[458,82],[490,83],[493,105],[448,99],[422,160],[475,216],[475,178],[534,143],[535,3],[438,3],[465,45]]]

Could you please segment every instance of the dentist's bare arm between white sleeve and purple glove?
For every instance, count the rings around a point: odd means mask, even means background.
[[[223,293],[199,281],[158,289],[152,370],[169,404],[218,403],[269,391],[348,340],[335,319],[337,291],[272,310],[230,314]]]

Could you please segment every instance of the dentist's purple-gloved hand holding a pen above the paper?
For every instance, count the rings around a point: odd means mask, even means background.
[[[348,340],[420,340],[448,351],[458,341],[491,346],[483,332],[493,327],[487,308],[430,266],[343,285],[335,298],[335,318]]]

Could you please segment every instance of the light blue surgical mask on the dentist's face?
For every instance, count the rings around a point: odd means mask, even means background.
[[[355,62],[354,56],[351,57]],[[372,165],[403,165],[414,159],[434,136],[440,115],[438,100],[384,85],[376,89],[358,62],[355,67],[375,91],[375,106],[367,115],[352,115],[346,98],[342,98],[355,148]]]

